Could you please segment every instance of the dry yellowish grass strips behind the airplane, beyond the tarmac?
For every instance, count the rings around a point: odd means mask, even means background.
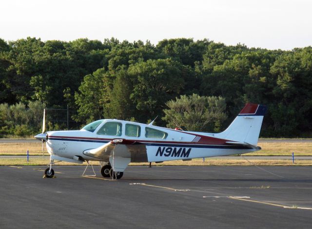
[[[244,154],[244,156],[291,156],[294,152],[295,156],[312,156],[312,143],[297,143],[297,142],[267,142],[259,143],[262,150]],[[29,150],[30,162],[26,162],[26,152]],[[44,146],[45,155],[48,155]],[[1,158],[0,165],[46,165],[47,159],[31,158],[31,156],[41,156],[42,146],[40,142],[29,143],[0,143],[0,155],[8,156],[25,156],[25,158]],[[205,162],[202,159],[194,159],[192,161],[170,161],[157,164],[157,166],[168,165],[186,165],[186,166],[248,166],[249,162],[245,160],[236,160],[236,156],[233,159],[215,159],[207,158]],[[295,164],[292,164],[291,160],[251,160],[256,165],[263,166],[312,166],[312,160],[296,160]],[[61,162],[59,165],[75,165],[71,163]],[[131,165],[148,165],[148,164],[131,164]]]

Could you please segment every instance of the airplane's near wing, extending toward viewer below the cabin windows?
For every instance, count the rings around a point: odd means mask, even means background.
[[[131,162],[147,162],[146,145],[133,140],[114,139],[95,149],[88,149],[84,155],[103,161],[109,161],[110,157],[130,158]]]

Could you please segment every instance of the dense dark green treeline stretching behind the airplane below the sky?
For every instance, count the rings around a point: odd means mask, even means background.
[[[253,102],[269,108],[263,137],[312,136],[312,47],[267,50],[183,38],[156,45],[114,38],[0,39],[0,82],[2,134],[16,128],[2,112],[10,105],[68,104],[82,123],[100,118],[146,123],[158,115],[156,124],[165,126],[172,125],[166,103],[196,94],[225,101],[227,118],[217,129]],[[37,130],[32,122],[25,125]],[[214,130],[209,126],[204,130]]]

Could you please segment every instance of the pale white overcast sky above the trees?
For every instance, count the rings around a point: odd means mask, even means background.
[[[267,49],[312,45],[312,0],[1,0],[0,6],[5,41],[206,38]]]

